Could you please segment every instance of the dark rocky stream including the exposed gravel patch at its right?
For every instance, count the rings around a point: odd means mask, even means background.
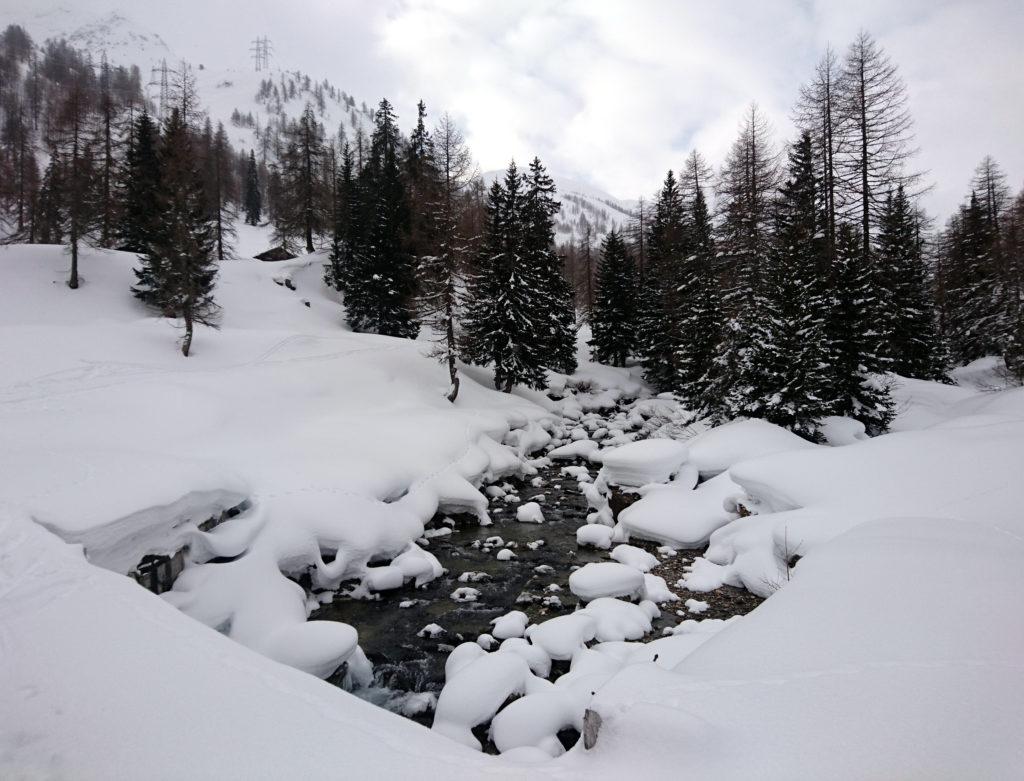
[[[607,561],[608,552],[577,545],[577,529],[587,523],[590,509],[577,479],[562,475],[567,466],[585,467],[592,477],[600,469],[584,461],[560,461],[525,479],[498,481],[495,485],[506,495],[489,500],[492,525],[480,526],[475,516],[444,514],[427,525],[420,544],[437,557],[444,574],[418,589],[409,584],[374,599],[353,599],[338,592],[310,615],[310,619],[343,621],[358,631],[359,645],[374,665],[374,684],[353,694],[429,726],[444,684],[444,661],[455,646],[488,633],[492,619],[511,610],[522,610],[536,623],[577,608],[580,600],[569,592],[569,574],[589,562]],[[526,502],[541,505],[544,523],[516,520],[516,509]],[[643,541],[631,544],[656,551],[656,546]],[[501,550],[511,551],[514,558],[499,560]],[[700,553],[659,557],[664,571],[659,566],[653,572],[666,578],[681,601],[663,607],[648,640],[660,637],[665,627],[675,626],[686,615],[676,608],[689,597],[711,604],[706,613],[687,616],[697,618],[727,618],[760,602],[736,589],[705,595],[677,588],[682,566]],[[464,588],[477,590],[476,599],[453,598]],[[424,633],[431,624],[440,632]],[[342,677],[339,671],[330,680],[340,686]]]

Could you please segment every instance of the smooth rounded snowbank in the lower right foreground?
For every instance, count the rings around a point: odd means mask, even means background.
[[[590,705],[604,718],[596,750],[563,767],[1011,778],[1024,760],[1022,589],[1021,537],[993,525],[861,524],[673,671],[623,668]]]

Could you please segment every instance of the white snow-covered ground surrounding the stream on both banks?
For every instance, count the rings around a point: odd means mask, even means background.
[[[264,246],[245,228],[239,254]],[[990,362],[958,386],[899,381],[894,433],[837,421],[836,446],[688,426],[635,371],[592,363],[553,378],[586,389],[560,402],[473,368],[452,406],[422,342],[343,328],[318,256],[223,263],[222,328],[187,359],[131,298],[132,263],[86,252],[73,292],[60,248],[0,249],[0,776],[1019,775],[1024,390],[993,390]],[[685,443],[630,444],[641,431]],[[429,579],[423,522],[485,521],[480,482],[546,446],[607,463],[564,472],[593,510],[581,541],[611,549],[568,578],[586,608],[481,626],[449,657],[432,731],[317,680],[365,674],[358,627],[307,621],[286,574],[368,594]],[[615,483],[641,494],[617,523]],[[680,588],[772,596],[699,620],[630,537],[710,543]],[[185,543],[169,594],[124,576]],[[640,642],[655,603],[681,620]],[[596,745],[562,754],[588,708]],[[488,723],[500,757],[472,750]]]

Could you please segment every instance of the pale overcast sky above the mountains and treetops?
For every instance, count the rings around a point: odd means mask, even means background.
[[[955,207],[986,154],[1015,190],[1024,185],[1024,0],[59,5],[76,15],[119,8],[195,61],[240,63],[266,34],[278,64],[371,104],[386,95],[407,129],[420,97],[435,116],[447,110],[484,170],[536,154],[621,198],[653,191],[691,146],[720,162],[751,100],[787,140],[790,110],[823,47],[842,51],[864,28],[907,84],[934,213]],[[0,0],[0,16],[25,9]]]

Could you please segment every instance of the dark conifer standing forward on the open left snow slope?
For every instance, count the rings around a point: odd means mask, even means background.
[[[147,252],[156,272],[152,300],[165,313],[182,318],[181,354],[187,357],[195,324],[215,326],[219,307],[213,300],[215,226],[190,134],[177,107],[164,129],[160,170],[160,211]]]

